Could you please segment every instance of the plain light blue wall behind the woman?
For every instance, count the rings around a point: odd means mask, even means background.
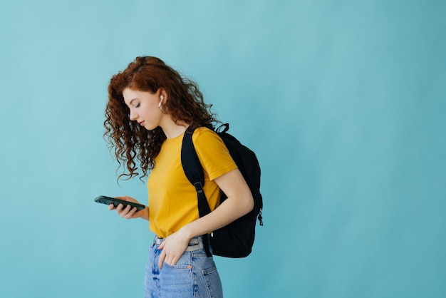
[[[97,195],[110,76],[159,56],[262,167],[226,297],[446,297],[445,1],[2,1],[0,297],[142,297],[147,222]]]

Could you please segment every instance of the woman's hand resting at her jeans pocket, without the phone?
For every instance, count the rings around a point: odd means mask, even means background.
[[[172,235],[166,237],[166,239],[158,247],[158,250],[162,250],[160,259],[158,260],[158,267],[162,268],[162,263],[175,265],[180,257],[185,252],[187,245],[189,245],[190,237],[185,232],[179,230]]]

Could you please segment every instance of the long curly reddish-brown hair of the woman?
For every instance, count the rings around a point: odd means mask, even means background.
[[[142,56],[135,58],[124,71],[112,76],[108,85],[108,103],[105,108],[104,138],[110,145],[110,151],[118,160],[118,170],[124,167],[118,180],[125,180],[140,175],[147,177],[155,166],[155,157],[160,153],[162,142],[166,139],[160,127],[147,130],[136,121],[130,120],[130,109],[124,102],[123,90],[130,88],[155,94],[163,88],[167,93],[163,113],[192,126],[214,128],[219,123],[211,113],[212,105],[204,103],[203,95],[197,83],[180,76],[160,58]],[[126,171],[127,170],[127,171]]]

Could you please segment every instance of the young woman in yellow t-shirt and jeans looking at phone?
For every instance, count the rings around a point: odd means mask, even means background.
[[[121,217],[149,220],[155,240],[145,269],[145,297],[222,297],[222,284],[202,235],[250,212],[254,201],[227,148],[212,129],[217,123],[197,84],[155,57],[137,57],[108,86],[105,135],[120,175],[148,176],[149,204],[139,212],[130,205],[109,206]],[[199,217],[197,192],[181,164],[185,130],[204,170],[204,192],[211,213]],[[219,191],[227,200],[219,204]],[[133,197],[118,197],[138,202]],[[212,251],[212,247],[210,247]]]

